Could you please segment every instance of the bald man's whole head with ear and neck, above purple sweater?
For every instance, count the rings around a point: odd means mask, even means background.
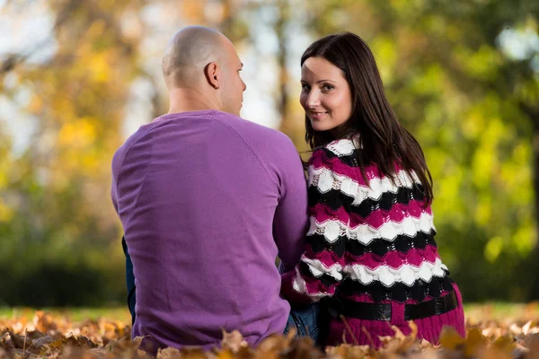
[[[221,32],[189,26],[176,32],[163,57],[171,109],[218,109],[239,115],[245,83],[242,61]]]

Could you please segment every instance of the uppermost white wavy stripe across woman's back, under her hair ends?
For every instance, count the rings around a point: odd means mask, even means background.
[[[384,177],[383,179],[375,177],[369,180],[368,187],[360,185],[357,180],[337,174],[325,167],[315,169],[311,165],[309,166],[308,173],[309,187],[316,187],[320,193],[327,193],[331,189],[340,190],[343,194],[354,198],[352,206],[359,206],[367,198],[380,199],[386,192],[396,194],[399,188],[402,187],[412,188],[414,182],[420,184],[420,180],[414,172],[412,172],[414,180],[411,180],[408,173],[404,170],[397,172],[395,177],[396,186],[388,177]]]

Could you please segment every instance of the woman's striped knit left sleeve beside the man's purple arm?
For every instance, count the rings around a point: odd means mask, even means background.
[[[318,302],[332,296],[342,281],[342,261],[336,247],[349,225],[346,208],[353,201],[335,186],[339,176],[333,171],[338,158],[329,159],[323,150],[309,161],[308,198],[310,228],[305,253],[296,268],[281,276],[281,292],[291,302]]]

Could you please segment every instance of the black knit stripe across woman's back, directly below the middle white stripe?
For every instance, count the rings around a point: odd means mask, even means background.
[[[415,236],[410,237],[400,234],[394,241],[386,241],[382,238],[375,238],[369,244],[365,245],[358,240],[350,240],[347,236],[339,236],[337,241],[329,243],[323,234],[314,233],[307,236],[307,244],[311,246],[314,253],[319,253],[322,250],[329,250],[341,258],[345,252],[349,252],[354,256],[362,256],[365,253],[374,253],[377,256],[384,257],[387,252],[398,250],[404,254],[408,253],[412,248],[424,250],[427,245],[437,247],[434,240],[436,232],[431,230],[429,233],[417,232]]]

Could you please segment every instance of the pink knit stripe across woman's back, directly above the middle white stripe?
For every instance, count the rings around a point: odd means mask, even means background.
[[[408,205],[401,203],[394,204],[389,211],[376,209],[366,218],[355,213],[348,213],[344,207],[340,207],[337,211],[333,211],[331,207],[317,203],[309,208],[309,215],[314,216],[316,222],[323,223],[329,219],[339,220],[349,228],[356,228],[359,224],[368,224],[373,228],[380,228],[384,223],[402,223],[405,217],[414,217],[420,219],[423,213],[432,215],[430,206],[422,207],[423,202],[411,200]]]

